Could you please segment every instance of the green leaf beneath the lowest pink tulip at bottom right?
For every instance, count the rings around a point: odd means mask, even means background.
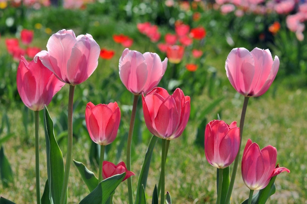
[[[258,193],[253,195],[253,198],[251,200],[252,204],[265,204],[267,199],[276,193],[276,186],[275,186],[275,179],[277,175],[271,178],[269,184],[264,188],[259,190]],[[248,198],[243,201],[241,204],[247,204],[248,203]]]

